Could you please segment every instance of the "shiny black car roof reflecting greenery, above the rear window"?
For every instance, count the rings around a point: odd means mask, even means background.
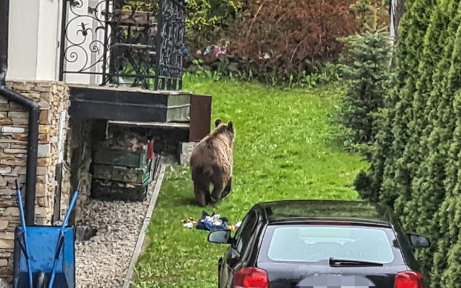
[[[364,201],[282,200],[258,203],[269,223],[299,221],[348,221],[392,226],[397,220],[389,207]]]

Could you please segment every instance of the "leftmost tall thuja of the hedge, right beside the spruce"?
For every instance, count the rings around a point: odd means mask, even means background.
[[[394,123],[399,118],[398,115],[405,111],[402,107],[406,107],[408,104],[400,93],[406,85],[406,76],[416,73],[417,69],[411,64],[414,62],[413,59],[417,58],[416,48],[422,44],[421,39],[418,43],[417,39],[414,39],[414,35],[408,33],[412,26],[416,25],[416,21],[413,20],[416,11],[412,9],[415,2],[415,0],[405,1],[407,13],[404,14],[400,21],[398,29],[398,38],[400,40],[396,47],[398,68],[392,79],[393,89],[385,97],[384,109],[376,116],[377,132],[370,170],[368,173],[359,173],[355,180],[355,187],[361,192],[362,197],[370,198],[374,201],[379,200],[389,205],[392,205],[398,197],[397,189],[393,185],[393,179],[395,176],[395,160],[398,158],[397,153],[400,151],[396,147],[398,145],[394,141],[394,135],[399,136],[400,131],[397,128],[400,125],[394,125]]]

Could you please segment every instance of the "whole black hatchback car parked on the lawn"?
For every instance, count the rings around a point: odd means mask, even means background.
[[[429,240],[367,202],[259,203],[234,237],[220,230],[208,241],[230,244],[219,259],[219,288],[426,287],[413,253]]]

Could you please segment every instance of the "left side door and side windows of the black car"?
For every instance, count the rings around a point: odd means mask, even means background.
[[[234,243],[224,254],[219,271],[219,288],[231,288],[234,272],[242,266],[243,255],[248,248],[248,241],[256,227],[255,211],[248,212],[234,236]]]

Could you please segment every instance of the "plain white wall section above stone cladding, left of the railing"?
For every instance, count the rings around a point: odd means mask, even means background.
[[[10,0],[8,79],[57,80],[62,0]]]

